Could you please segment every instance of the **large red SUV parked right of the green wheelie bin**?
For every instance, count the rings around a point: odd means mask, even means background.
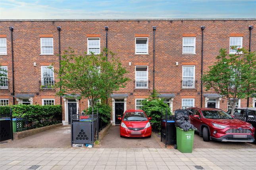
[[[189,120],[204,141],[254,142],[255,128],[215,108],[188,108]]]

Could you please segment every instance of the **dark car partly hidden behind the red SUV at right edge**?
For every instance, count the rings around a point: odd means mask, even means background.
[[[230,115],[231,110],[227,111]],[[246,121],[256,128],[256,108],[235,108],[233,118]]]

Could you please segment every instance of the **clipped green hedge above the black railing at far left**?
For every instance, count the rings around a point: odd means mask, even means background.
[[[17,104],[12,106],[0,106],[0,114],[10,113],[12,108],[13,117],[37,117],[42,115],[61,115],[61,105],[25,105]]]

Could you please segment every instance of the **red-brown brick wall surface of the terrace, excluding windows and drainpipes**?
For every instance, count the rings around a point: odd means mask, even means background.
[[[16,94],[33,94],[33,104],[42,104],[42,98],[54,98],[60,104],[56,91],[39,91],[38,81],[41,79],[41,66],[54,64],[59,68],[58,30],[61,26],[61,53],[72,47],[78,53],[87,52],[87,38],[99,37],[100,49],[106,47],[106,31],[108,26],[108,49],[117,53],[123,66],[129,71],[131,79],[127,87],[116,94],[128,94],[127,109],[135,108],[136,98],[146,98],[152,93],[153,86],[153,29],[155,32],[155,87],[160,94],[175,94],[173,110],[181,108],[182,98],[194,98],[194,106],[200,107],[201,77],[201,43],[204,25],[204,71],[212,65],[219,49],[229,49],[230,36],[243,36],[243,47],[249,48],[249,25],[256,25],[256,20],[146,20],[146,21],[0,21],[0,38],[6,37],[7,55],[0,55],[0,65],[8,66],[8,90],[0,91],[0,99],[12,99],[12,53],[9,26],[13,26],[14,79]],[[40,55],[40,37],[52,37],[54,55]],[[135,38],[148,37],[148,55],[135,55]],[[183,54],[183,37],[196,38],[196,54]],[[252,30],[251,51],[256,51],[256,31]],[[34,62],[36,66],[34,66]],[[131,62],[131,66],[129,66]],[[176,66],[176,62],[178,65]],[[148,66],[149,89],[135,89],[135,66]],[[182,66],[195,66],[197,90],[182,91]],[[58,81],[55,76],[55,81]],[[214,92],[204,92],[203,94]],[[63,100],[63,99],[62,99]],[[246,99],[241,100],[241,107],[246,107]],[[64,101],[62,105],[64,106]],[[111,98],[109,103],[112,104]],[[15,98],[15,104],[17,100]],[[220,108],[227,111],[227,101],[219,102]],[[250,98],[249,105],[252,106]],[[205,106],[203,98],[202,106]],[[87,100],[79,101],[81,110],[88,107]],[[63,115],[65,120],[65,115]]]

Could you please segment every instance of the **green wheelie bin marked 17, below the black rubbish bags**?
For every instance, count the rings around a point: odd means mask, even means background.
[[[194,131],[184,131],[183,129],[176,127],[177,135],[177,149],[182,153],[191,153],[194,143]]]

